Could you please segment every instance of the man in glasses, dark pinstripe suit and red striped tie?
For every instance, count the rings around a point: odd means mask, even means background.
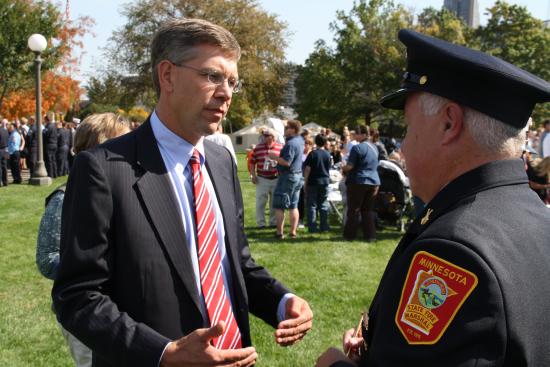
[[[155,111],[74,162],[53,299],[95,366],[251,366],[249,311],[280,345],[311,328],[307,302],[252,259],[235,162],[203,139],[240,89],[239,56],[222,27],[167,22]]]

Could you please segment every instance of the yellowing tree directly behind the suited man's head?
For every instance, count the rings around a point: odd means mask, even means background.
[[[235,95],[228,119],[234,127],[250,121],[250,111],[276,107],[288,75],[284,67],[286,24],[263,11],[254,0],[138,0],[124,9],[127,22],[114,32],[109,56],[112,67],[139,81],[128,90],[152,107],[149,45],[169,18],[202,18],[231,31],[242,48],[239,76],[244,90]]]

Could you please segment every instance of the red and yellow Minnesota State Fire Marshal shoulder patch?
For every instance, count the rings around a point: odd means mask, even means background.
[[[425,251],[412,259],[395,323],[409,344],[435,344],[477,285],[477,276]]]

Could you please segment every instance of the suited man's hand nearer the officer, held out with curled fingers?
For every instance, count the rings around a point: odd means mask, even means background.
[[[289,298],[285,320],[279,323],[275,331],[275,341],[285,347],[298,342],[311,329],[312,319],[313,312],[305,300],[296,296]]]

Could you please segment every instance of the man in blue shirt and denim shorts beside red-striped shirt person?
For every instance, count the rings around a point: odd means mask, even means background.
[[[277,161],[279,179],[273,193],[273,208],[277,219],[277,238],[284,238],[285,209],[290,216],[290,237],[296,238],[298,228],[298,200],[300,189],[304,184],[302,177],[302,154],[304,152],[304,139],[300,136],[302,123],[297,120],[289,120],[285,127],[286,144],[281,150],[281,155],[271,155],[270,158]]]

